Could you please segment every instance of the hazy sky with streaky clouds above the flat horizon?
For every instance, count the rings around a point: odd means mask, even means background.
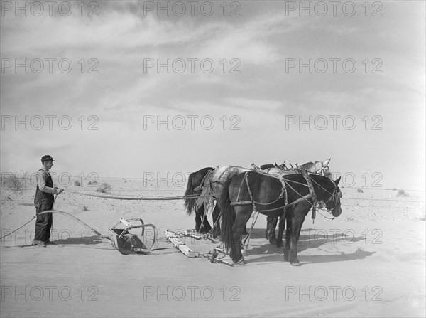
[[[0,19],[1,171],[331,158],[346,186],[425,189],[424,1],[1,1]]]

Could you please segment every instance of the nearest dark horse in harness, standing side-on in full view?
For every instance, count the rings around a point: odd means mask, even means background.
[[[282,216],[287,223],[284,260],[300,266],[297,241],[305,216],[317,201],[324,201],[333,216],[342,213],[338,187],[340,178],[332,181],[316,174],[271,176],[256,171],[234,176],[222,191],[222,242],[230,248],[234,263],[244,260],[241,233],[253,209],[266,216]]]

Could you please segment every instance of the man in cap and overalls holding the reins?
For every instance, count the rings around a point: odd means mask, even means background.
[[[54,194],[61,194],[64,189],[53,186],[52,176],[49,170],[53,166],[53,158],[46,154],[41,157],[43,168],[37,171],[37,189],[35,191],[34,206],[37,218],[35,220],[35,235],[33,245],[45,247],[50,242],[50,228],[52,228],[52,213],[39,214],[40,212],[52,210]]]

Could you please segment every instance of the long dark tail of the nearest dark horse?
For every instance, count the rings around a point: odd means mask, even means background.
[[[234,240],[232,235],[232,226],[235,221],[234,208],[231,206],[231,200],[229,199],[229,185],[231,184],[229,179],[225,182],[220,194],[220,211],[222,213],[222,243],[224,244],[224,249],[231,248],[232,241]]]

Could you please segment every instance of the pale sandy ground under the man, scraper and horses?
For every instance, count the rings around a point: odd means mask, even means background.
[[[111,194],[178,196],[137,179],[107,179]],[[101,183],[102,180],[99,180]],[[89,186],[72,191],[96,189]],[[143,191],[141,191],[143,189]],[[298,257],[264,238],[260,216],[246,264],[229,267],[186,258],[164,230],[194,226],[182,201],[119,201],[64,192],[55,209],[108,233],[120,217],[140,217],[161,235],[151,255],[121,255],[108,240],[66,216],[54,216],[46,248],[20,247],[35,222],[1,240],[1,317],[425,317],[425,197],[407,191],[342,189],[342,215],[306,219]],[[35,213],[34,189],[1,191],[1,235]],[[87,210],[87,211],[85,211]],[[148,239],[148,238],[147,238]],[[219,243],[186,238],[207,253]]]

